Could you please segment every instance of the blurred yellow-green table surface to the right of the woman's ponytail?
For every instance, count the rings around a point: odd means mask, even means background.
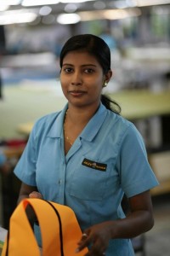
[[[170,90],[123,90],[110,96],[120,104],[122,116],[127,119],[170,114]]]

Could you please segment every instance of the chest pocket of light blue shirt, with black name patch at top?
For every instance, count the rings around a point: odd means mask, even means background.
[[[82,162],[84,160],[86,160],[86,163],[89,161],[91,164],[94,163],[94,165],[83,165]],[[96,164],[99,165],[99,168]],[[106,166],[106,168],[103,168],[103,166]],[[74,168],[74,172],[71,173],[69,194],[82,200],[103,200],[106,194],[110,169],[110,163],[92,160],[87,156],[83,156],[82,159],[80,159],[80,164],[77,165],[76,168]]]

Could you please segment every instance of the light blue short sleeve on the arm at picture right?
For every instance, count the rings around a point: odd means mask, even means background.
[[[158,185],[147,159],[143,138],[132,123],[122,137],[116,167],[127,197],[138,195]]]

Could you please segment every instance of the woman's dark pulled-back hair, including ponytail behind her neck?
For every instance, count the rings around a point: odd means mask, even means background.
[[[90,55],[94,55],[99,61],[104,74],[111,70],[111,50],[102,38],[92,34],[81,34],[69,38],[60,52],[60,67],[63,66],[65,55],[73,50],[85,50]],[[105,105],[105,108],[115,113],[121,112],[121,107],[115,101],[111,100],[109,96],[101,95],[101,102]],[[112,104],[114,107],[111,106]]]

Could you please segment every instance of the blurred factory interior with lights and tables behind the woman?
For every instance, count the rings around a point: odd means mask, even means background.
[[[156,224],[139,253],[170,252],[170,0],[1,0],[0,226],[8,229],[20,182],[13,168],[36,119],[59,110],[59,52],[67,38],[94,33],[111,48],[114,77],[105,93],[144,137],[160,181],[151,191]],[[145,250],[145,254],[144,254]]]

